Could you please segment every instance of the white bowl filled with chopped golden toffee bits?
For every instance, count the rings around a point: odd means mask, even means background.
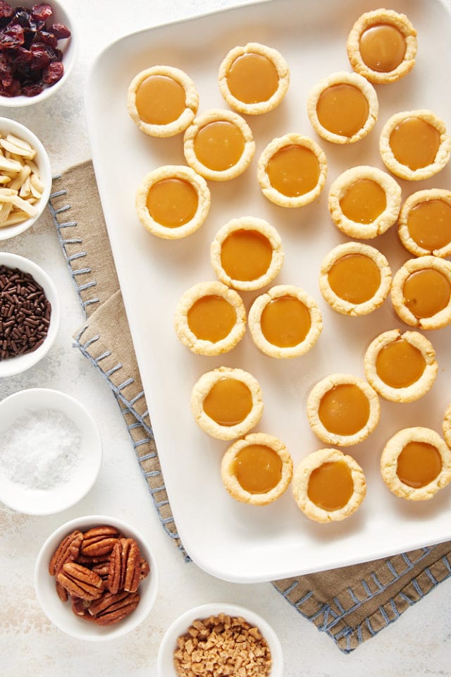
[[[282,648],[273,628],[251,609],[203,604],[166,630],[157,672],[159,677],[282,677]]]

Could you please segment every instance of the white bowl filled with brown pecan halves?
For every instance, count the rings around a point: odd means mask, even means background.
[[[136,628],[154,605],[155,556],[122,520],[86,516],[59,527],[35,565],[35,590],[44,614],[66,634],[110,640]]]

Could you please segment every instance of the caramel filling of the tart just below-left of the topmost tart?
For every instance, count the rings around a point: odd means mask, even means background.
[[[316,104],[319,123],[328,131],[351,137],[368,119],[369,105],[359,87],[342,83],[321,92]]]

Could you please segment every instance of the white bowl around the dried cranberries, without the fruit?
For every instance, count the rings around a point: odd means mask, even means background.
[[[38,4],[34,0],[18,0],[11,1],[8,0],[8,4],[12,7],[25,7],[29,9],[32,5]],[[52,94],[55,94],[60,87],[68,79],[70,72],[73,70],[75,61],[77,60],[78,54],[78,35],[75,31],[75,26],[72,18],[70,18],[70,13],[68,13],[64,2],[60,0],[49,0],[48,3],[53,9],[53,15],[49,20],[47,20],[47,25],[52,23],[63,23],[70,30],[70,37],[67,39],[58,40],[58,49],[61,49],[63,52],[63,65],[64,73],[63,77],[58,80],[54,85],[49,85],[44,87],[44,90],[40,94],[37,94],[35,97],[25,97],[23,94],[19,94],[17,97],[4,97],[0,94],[0,106],[5,106],[8,108],[22,108],[23,106],[32,106],[33,104],[40,103],[45,99],[51,97]]]

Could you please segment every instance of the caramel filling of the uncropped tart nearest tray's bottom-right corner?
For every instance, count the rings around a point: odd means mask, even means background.
[[[438,449],[427,442],[409,442],[397,457],[397,476],[414,489],[426,487],[441,470],[442,457]]]

